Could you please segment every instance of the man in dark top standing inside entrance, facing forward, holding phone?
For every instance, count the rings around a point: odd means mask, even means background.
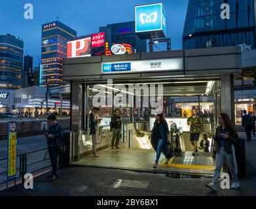
[[[112,149],[120,149],[119,147],[119,140],[120,140],[120,134],[121,134],[121,118],[119,116],[120,110],[117,109],[114,112],[114,115],[111,117],[111,131],[113,132],[113,137],[112,137]]]

